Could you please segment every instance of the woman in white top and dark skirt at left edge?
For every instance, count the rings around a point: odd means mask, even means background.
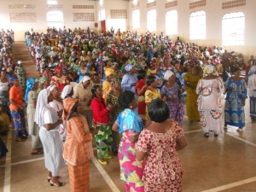
[[[9,118],[11,117],[9,111],[9,80],[7,79],[5,69],[1,71],[1,79],[0,79],[0,104],[2,106],[3,111],[8,113]]]

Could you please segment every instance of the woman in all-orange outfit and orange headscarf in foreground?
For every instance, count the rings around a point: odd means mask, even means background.
[[[93,157],[90,129],[79,99],[66,98],[63,106],[62,118],[67,120],[63,157],[68,165],[70,191],[89,192],[90,159]]]

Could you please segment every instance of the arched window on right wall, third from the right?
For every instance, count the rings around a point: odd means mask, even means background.
[[[177,10],[166,12],[166,35],[177,34]]]

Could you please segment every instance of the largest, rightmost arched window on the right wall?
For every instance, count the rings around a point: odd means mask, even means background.
[[[222,18],[222,44],[243,45],[245,16],[242,12],[230,13]]]

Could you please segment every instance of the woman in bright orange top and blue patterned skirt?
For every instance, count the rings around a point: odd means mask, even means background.
[[[25,142],[28,136],[23,107],[25,101],[18,79],[15,79],[14,85],[9,90],[9,101],[9,108],[15,125],[16,142]]]

